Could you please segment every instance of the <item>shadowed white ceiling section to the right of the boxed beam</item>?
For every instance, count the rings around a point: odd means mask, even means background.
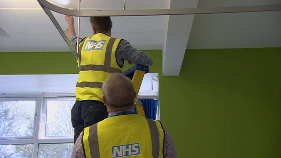
[[[281,0],[199,0],[199,7],[281,4]],[[188,49],[281,47],[281,11],[195,15]]]

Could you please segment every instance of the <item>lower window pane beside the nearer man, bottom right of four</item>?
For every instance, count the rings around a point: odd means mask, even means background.
[[[73,145],[73,143],[39,144],[38,157],[69,158],[71,156]]]

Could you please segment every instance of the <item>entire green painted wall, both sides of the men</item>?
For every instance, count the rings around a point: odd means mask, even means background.
[[[160,50],[145,52],[178,157],[281,157],[281,48],[187,50],[177,77],[161,75]],[[0,74],[77,73],[69,52],[0,58]]]

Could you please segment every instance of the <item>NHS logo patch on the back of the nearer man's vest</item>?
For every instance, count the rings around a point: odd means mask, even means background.
[[[127,157],[140,155],[140,143],[112,146],[112,157]]]

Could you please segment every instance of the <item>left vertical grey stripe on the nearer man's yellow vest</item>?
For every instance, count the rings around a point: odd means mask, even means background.
[[[89,128],[89,146],[91,157],[99,158],[100,150],[98,149],[98,123],[91,125]]]

